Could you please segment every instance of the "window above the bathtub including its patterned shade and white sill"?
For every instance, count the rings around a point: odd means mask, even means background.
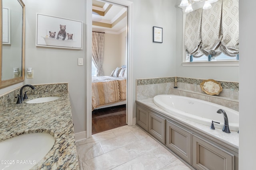
[[[211,63],[212,66],[214,64],[228,66],[228,63],[231,63],[232,66],[238,66],[238,0],[234,0],[232,4],[228,1],[217,1],[208,10],[200,6],[193,9],[195,10],[192,12],[183,13],[183,62],[185,63],[182,65],[199,66]],[[215,54],[218,55],[211,57]],[[193,55],[198,57],[192,57]],[[208,56],[211,59],[208,59]]]

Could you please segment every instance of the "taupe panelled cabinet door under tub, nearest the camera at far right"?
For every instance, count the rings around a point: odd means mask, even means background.
[[[198,170],[234,170],[234,155],[193,135],[192,166]]]

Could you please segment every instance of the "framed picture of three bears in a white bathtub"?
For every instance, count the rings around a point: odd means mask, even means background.
[[[36,46],[82,49],[83,22],[36,14]]]

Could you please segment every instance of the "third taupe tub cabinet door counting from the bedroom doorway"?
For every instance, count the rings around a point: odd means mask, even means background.
[[[191,164],[191,133],[167,121],[166,146]]]

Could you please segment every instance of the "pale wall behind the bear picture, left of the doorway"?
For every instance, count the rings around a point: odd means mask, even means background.
[[[25,84],[68,82],[75,132],[86,130],[86,1],[23,0],[26,5],[25,68],[34,78]],[[36,47],[36,13],[84,22],[83,49]],[[78,66],[78,58],[84,66]]]

